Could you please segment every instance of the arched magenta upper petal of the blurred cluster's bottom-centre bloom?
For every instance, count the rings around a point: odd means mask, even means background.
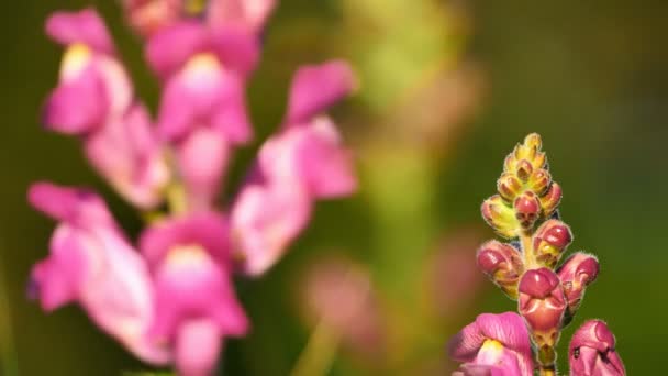
[[[218,212],[199,212],[175,218],[148,228],[140,239],[140,247],[152,268],[177,245],[201,245],[220,265],[230,259],[230,225]]]

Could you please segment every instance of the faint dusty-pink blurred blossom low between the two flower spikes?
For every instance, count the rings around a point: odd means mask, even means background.
[[[368,270],[345,258],[320,259],[300,286],[313,327],[327,325],[347,349],[371,362],[382,356],[382,317]]]

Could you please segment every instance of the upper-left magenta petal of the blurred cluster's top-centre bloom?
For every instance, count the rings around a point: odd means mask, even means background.
[[[174,75],[196,53],[207,49],[209,35],[199,22],[179,22],[155,33],[146,59],[160,78]]]

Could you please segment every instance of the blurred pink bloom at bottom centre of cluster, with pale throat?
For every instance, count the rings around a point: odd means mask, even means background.
[[[200,212],[155,224],[140,241],[156,291],[149,335],[174,346],[182,375],[209,375],[223,339],[248,331],[231,280],[227,232],[220,214]]]

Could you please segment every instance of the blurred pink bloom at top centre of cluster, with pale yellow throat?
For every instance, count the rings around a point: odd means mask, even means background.
[[[252,137],[245,82],[257,63],[257,41],[232,29],[181,22],[155,34],[146,55],[165,80],[158,134],[175,144],[189,209],[207,210],[230,147]]]

